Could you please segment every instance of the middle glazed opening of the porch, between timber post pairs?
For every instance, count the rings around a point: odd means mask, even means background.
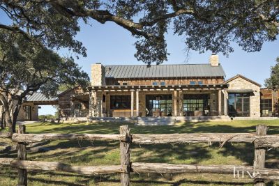
[[[146,95],[146,116],[172,116],[172,95]]]

